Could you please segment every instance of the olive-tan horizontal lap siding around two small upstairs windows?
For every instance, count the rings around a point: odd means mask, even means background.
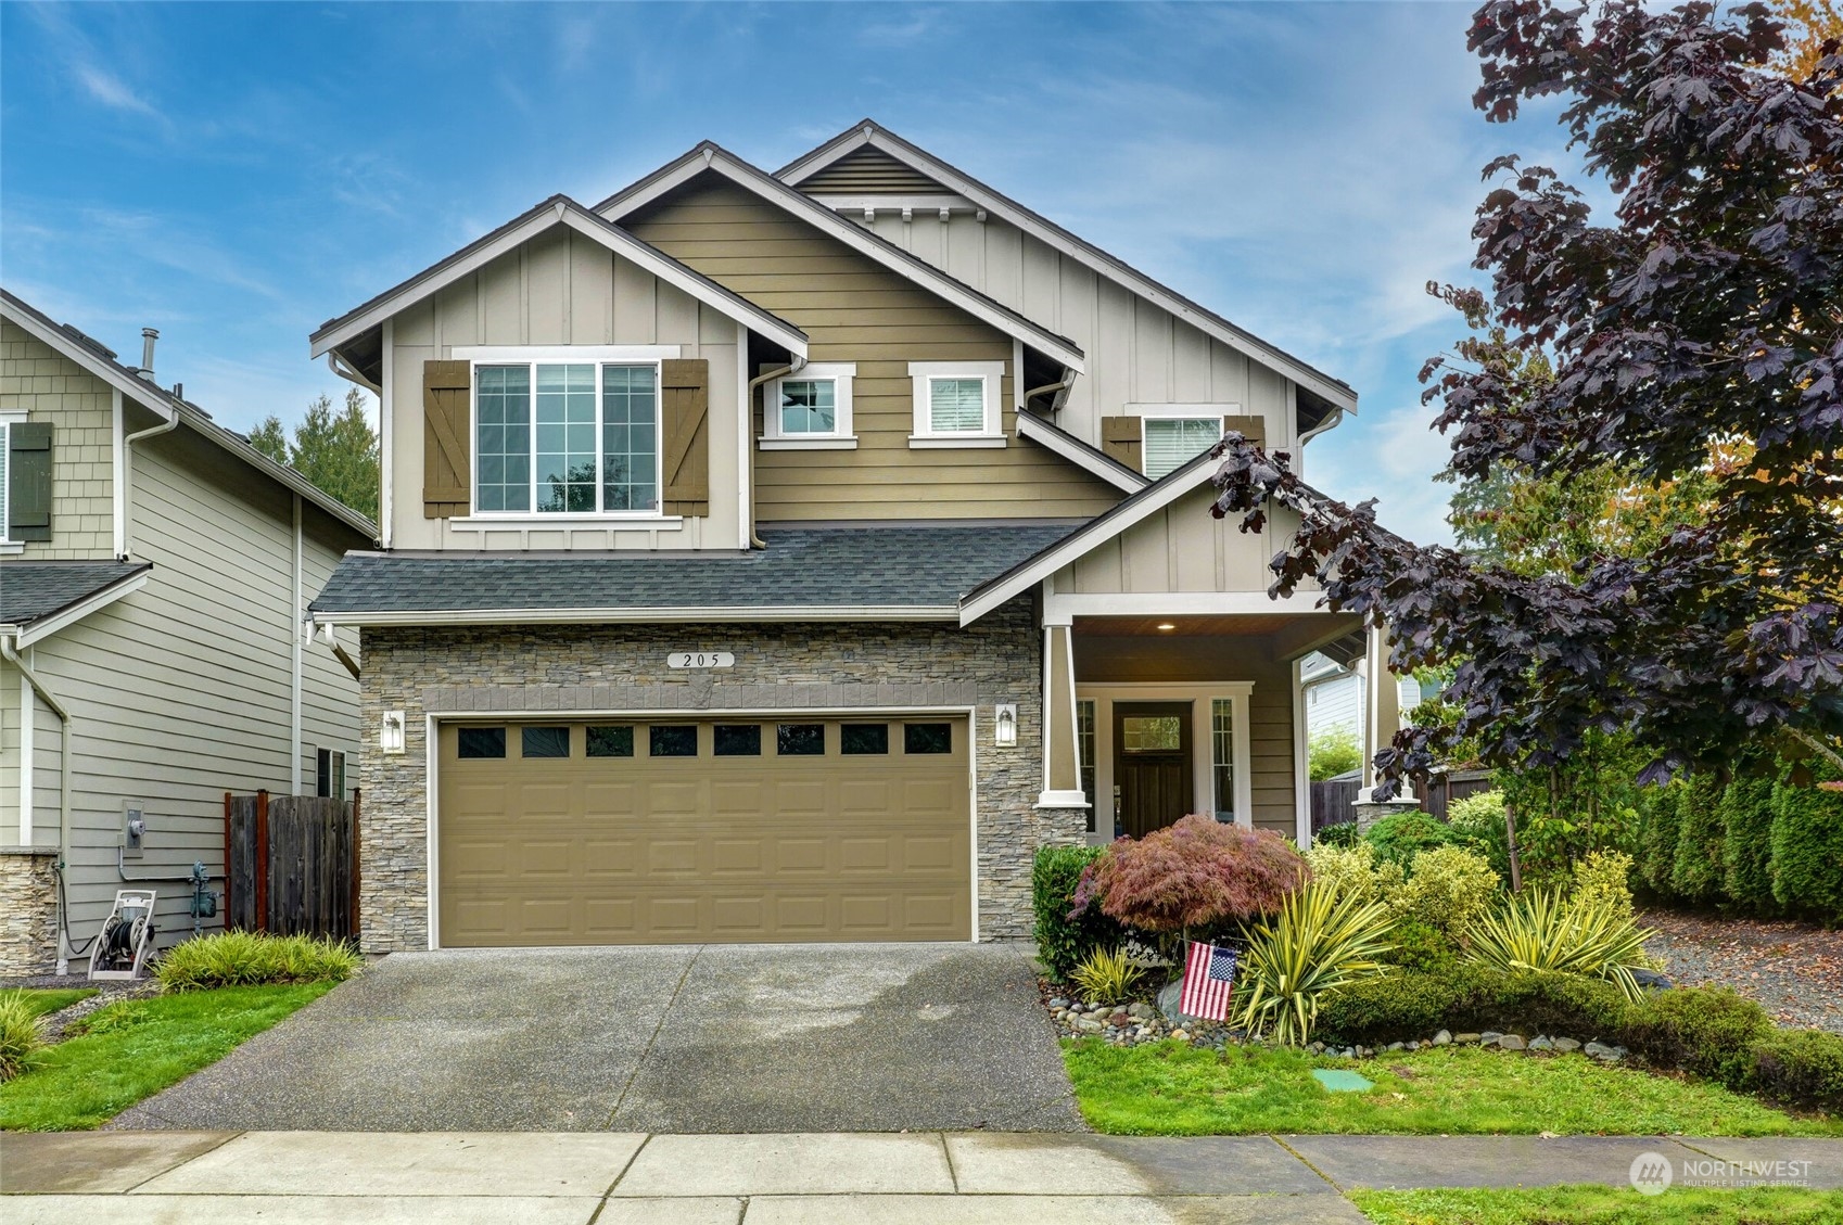
[[[1015,437],[1008,335],[816,227],[713,175],[623,225],[802,328],[809,361],[857,365],[857,449],[757,453],[759,521],[1087,518],[1119,501],[1113,486]],[[910,361],[1003,363],[1001,429],[1010,444],[910,448]]]

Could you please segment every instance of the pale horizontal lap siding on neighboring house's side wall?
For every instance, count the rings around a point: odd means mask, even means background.
[[[87,939],[116,890],[131,888],[116,873],[116,851],[123,801],[140,799],[147,836],[127,873],[175,877],[146,886],[158,893],[166,947],[192,934],[192,862],[203,860],[214,877],[223,871],[227,790],[289,794],[297,753],[302,790],[311,790],[315,744],[356,761],[358,682],[323,643],[304,645],[300,744],[289,742],[302,612],[293,599],[289,490],[179,429],[136,444],[129,503],[135,556],[153,562],[147,584],[35,643],[29,665],[72,715],[72,936]],[[302,606],[343,551],[361,547],[358,532],[304,505]],[[343,641],[356,654],[356,636]],[[17,689],[17,676],[0,683]],[[35,842],[55,846],[57,720],[41,707],[33,731]],[[17,801],[7,801],[6,820],[17,836]]]

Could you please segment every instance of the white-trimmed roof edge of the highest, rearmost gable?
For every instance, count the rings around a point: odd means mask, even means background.
[[[776,179],[789,186],[802,186],[818,175],[824,175],[828,168],[840,164],[842,160],[859,155],[861,149],[877,149],[890,158],[896,158],[912,169],[916,169],[925,179],[944,184],[947,190],[964,195],[973,201],[979,208],[997,214],[1004,221],[1015,225],[1019,230],[1030,234],[1038,241],[1047,243],[1054,251],[1086,263],[1089,269],[1106,276],[1130,289],[1132,293],[1146,298],[1154,306],[1161,306],[1178,319],[1203,330],[1205,333],[1216,337],[1229,348],[1246,354],[1248,357],[1270,367],[1294,383],[1323,396],[1332,405],[1345,409],[1349,413],[1356,411],[1356,392],[1349,383],[1331,378],[1323,370],[1318,370],[1292,354],[1286,354],[1274,344],[1253,335],[1246,328],[1238,328],[1222,315],[1215,313],[1207,306],[1192,302],[1170,286],[1163,286],[1139,269],[1128,265],[1124,260],[1108,254],[1100,247],[1076,238],[1069,230],[1062,228],[1049,217],[1019,204],[1008,195],[986,186],[979,179],[973,179],[966,171],[942,162],[925,149],[909,144],[896,133],[881,127],[874,120],[863,120],[861,123],[848,127],[826,144],[818,146],[811,153],[805,153],[781,169],[776,171]]]

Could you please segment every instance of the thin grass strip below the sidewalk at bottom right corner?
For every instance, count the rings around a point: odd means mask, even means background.
[[[1670,1188],[1640,1196],[1620,1186],[1539,1190],[1351,1192],[1377,1225],[1839,1225],[1836,1192],[1801,1186]]]

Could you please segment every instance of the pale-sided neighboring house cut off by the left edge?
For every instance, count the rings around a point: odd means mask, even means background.
[[[376,529],[4,291],[0,459],[0,974],[22,974],[59,928],[88,941],[123,877],[158,892],[160,945],[190,936],[227,790],[343,790],[358,683],[302,623]]]

